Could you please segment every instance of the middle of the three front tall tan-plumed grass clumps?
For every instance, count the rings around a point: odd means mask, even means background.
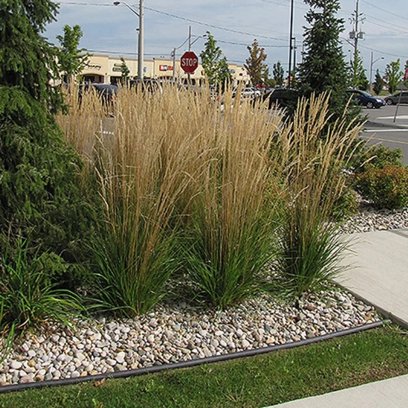
[[[271,155],[281,117],[258,105],[254,110],[248,100],[233,101],[231,90],[223,100],[223,111],[211,112],[196,139],[205,148],[194,148],[200,170],[189,185],[191,216],[183,241],[195,298],[219,309],[261,290],[264,267],[275,256],[283,188],[277,176],[282,162]]]

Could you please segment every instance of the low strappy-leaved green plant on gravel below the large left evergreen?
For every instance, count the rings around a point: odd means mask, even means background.
[[[30,256],[28,242],[19,239],[16,249],[7,248],[0,256],[0,331],[5,349],[16,334],[49,327],[52,321],[70,325],[72,313],[83,310],[77,296],[51,282],[50,276],[61,270],[53,269],[55,262],[44,263],[46,255],[37,248]]]

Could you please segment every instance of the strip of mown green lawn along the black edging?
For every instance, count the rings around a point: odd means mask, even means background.
[[[0,395],[2,408],[261,407],[408,373],[408,334],[378,328],[247,359]]]

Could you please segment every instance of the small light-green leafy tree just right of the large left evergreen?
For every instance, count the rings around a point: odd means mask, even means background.
[[[86,48],[78,49],[82,35],[79,25],[74,25],[71,28],[67,24],[64,25],[64,35],[57,35],[57,40],[61,44],[61,49],[58,52],[58,64],[60,71],[66,75],[68,83],[82,71],[91,56],[91,54],[85,53]]]

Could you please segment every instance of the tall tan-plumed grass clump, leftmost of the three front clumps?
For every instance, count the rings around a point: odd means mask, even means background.
[[[87,112],[92,115],[96,109],[92,95],[87,97],[83,95],[81,109],[91,105]],[[95,116],[103,109],[100,104]],[[107,125],[93,121],[85,135],[67,135],[74,146],[82,146],[80,154],[96,175],[104,203],[90,253],[94,291],[107,309],[127,316],[147,312],[180,267],[177,226],[185,217],[189,198],[184,192],[195,171],[190,166],[197,152],[190,144],[200,134],[199,109],[205,115],[193,95],[172,87],[154,95],[121,88]],[[77,120],[80,129],[88,115]],[[85,143],[75,140],[84,136]]]

